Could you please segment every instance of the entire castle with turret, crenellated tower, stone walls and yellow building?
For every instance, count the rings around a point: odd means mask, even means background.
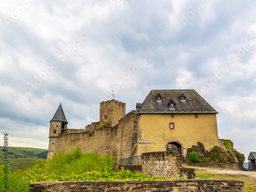
[[[125,103],[100,102],[100,118],[86,129],[68,129],[61,104],[50,121],[48,158],[58,151],[81,152],[120,159],[146,152],[177,151],[204,144],[206,150],[218,145],[218,112],[195,90],[152,90],[136,110],[125,114]]]

